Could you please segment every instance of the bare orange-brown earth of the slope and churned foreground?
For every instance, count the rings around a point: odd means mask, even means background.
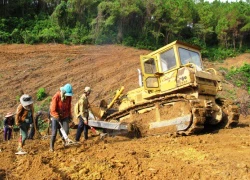
[[[149,52],[117,45],[0,45],[0,113],[15,112],[21,91],[36,99],[38,89],[45,88],[53,96],[65,83],[73,86],[72,104],[90,86],[90,102],[98,105],[121,86],[125,92],[138,87],[139,56]],[[230,68],[244,62],[250,62],[250,54],[205,66]],[[230,83],[224,87],[224,96],[246,96]],[[35,100],[37,108],[42,103]],[[74,134],[71,130],[70,138]],[[240,116],[236,128],[192,136],[89,136],[66,148],[57,137],[55,152],[49,152],[49,138],[27,140],[28,154],[17,156],[18,132],[8,142],[1,133],[0,179],[250,179],[249,117]]]

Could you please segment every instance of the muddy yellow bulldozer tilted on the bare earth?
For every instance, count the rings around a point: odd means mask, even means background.
[[[190,135],[206,125],[238,124],[237,105],[217,97],[221,77],[213,68],[204,69],[199,47],[174,41],[140,56],[140,63],[139,87],[127,94],[121,87],[109,104],[102,100],[91,107],[91,126],[145,136]]]

